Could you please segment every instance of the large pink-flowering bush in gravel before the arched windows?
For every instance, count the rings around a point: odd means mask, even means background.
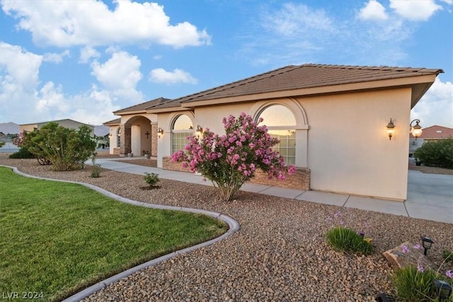
[[[294,174],[294,165],[285,165],[285,158],[272,149],[279,140],[271,137],[265,126],[253,122],[250,115],[241,113],[237,119],[229,115],[223,124],[224,135],[206,129],[201,138],[190,136],[185,151],[173,153],[171,160],[182,162],[183,167],[211,180],[223,201],[234,198],[258,168],[278,180]]]

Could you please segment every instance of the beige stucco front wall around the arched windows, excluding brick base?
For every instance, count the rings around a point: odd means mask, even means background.
[[[222,118],[283,103],[297,117],[297,166],[311,169],[311,189],[385,199],[406,199],[411,88],[195,108],[200,124],[223,133]],[[158,165],[171,155],[171,121],[183,112],[159,114]],[[190,112],[188,113],[191,116]],[[389,140],[390,118],[396,133]],[[301,121],[301,119],[306,119]]]

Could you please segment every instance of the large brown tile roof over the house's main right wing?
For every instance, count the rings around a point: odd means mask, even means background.
[[[425,69],[391,66],[346,66],[303,64],[285,66],[264,74],[228,83],[216,88],[177,98],[155,108],[176,107],[179,103],[212,100],[254,93],[288,91],[292,89],[333,86],[386,79],[407,78],[443,73],[442,69]]]

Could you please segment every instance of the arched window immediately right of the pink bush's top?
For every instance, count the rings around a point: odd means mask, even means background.
[[[280,139],[280,144],[274,146],[285,158],[285,163],[296,163],[296,118],[284,105],[270,105],[260,112],[263,122],[268,127],[272,137]]]

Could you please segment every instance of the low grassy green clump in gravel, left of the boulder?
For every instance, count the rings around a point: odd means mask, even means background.
[[[373,252],[373,245],[350,228],[336,226],[326,233],[326,237],[328,245],[331,245],[334,250],[358,252],[364,255],[369,255]]]

